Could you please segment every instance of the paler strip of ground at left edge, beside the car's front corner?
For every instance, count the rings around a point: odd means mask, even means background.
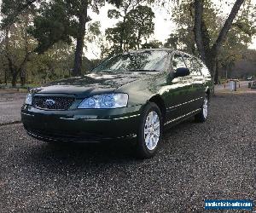
[[[0,125],[20,121],[20,107],[26,94],[0,91]]]

